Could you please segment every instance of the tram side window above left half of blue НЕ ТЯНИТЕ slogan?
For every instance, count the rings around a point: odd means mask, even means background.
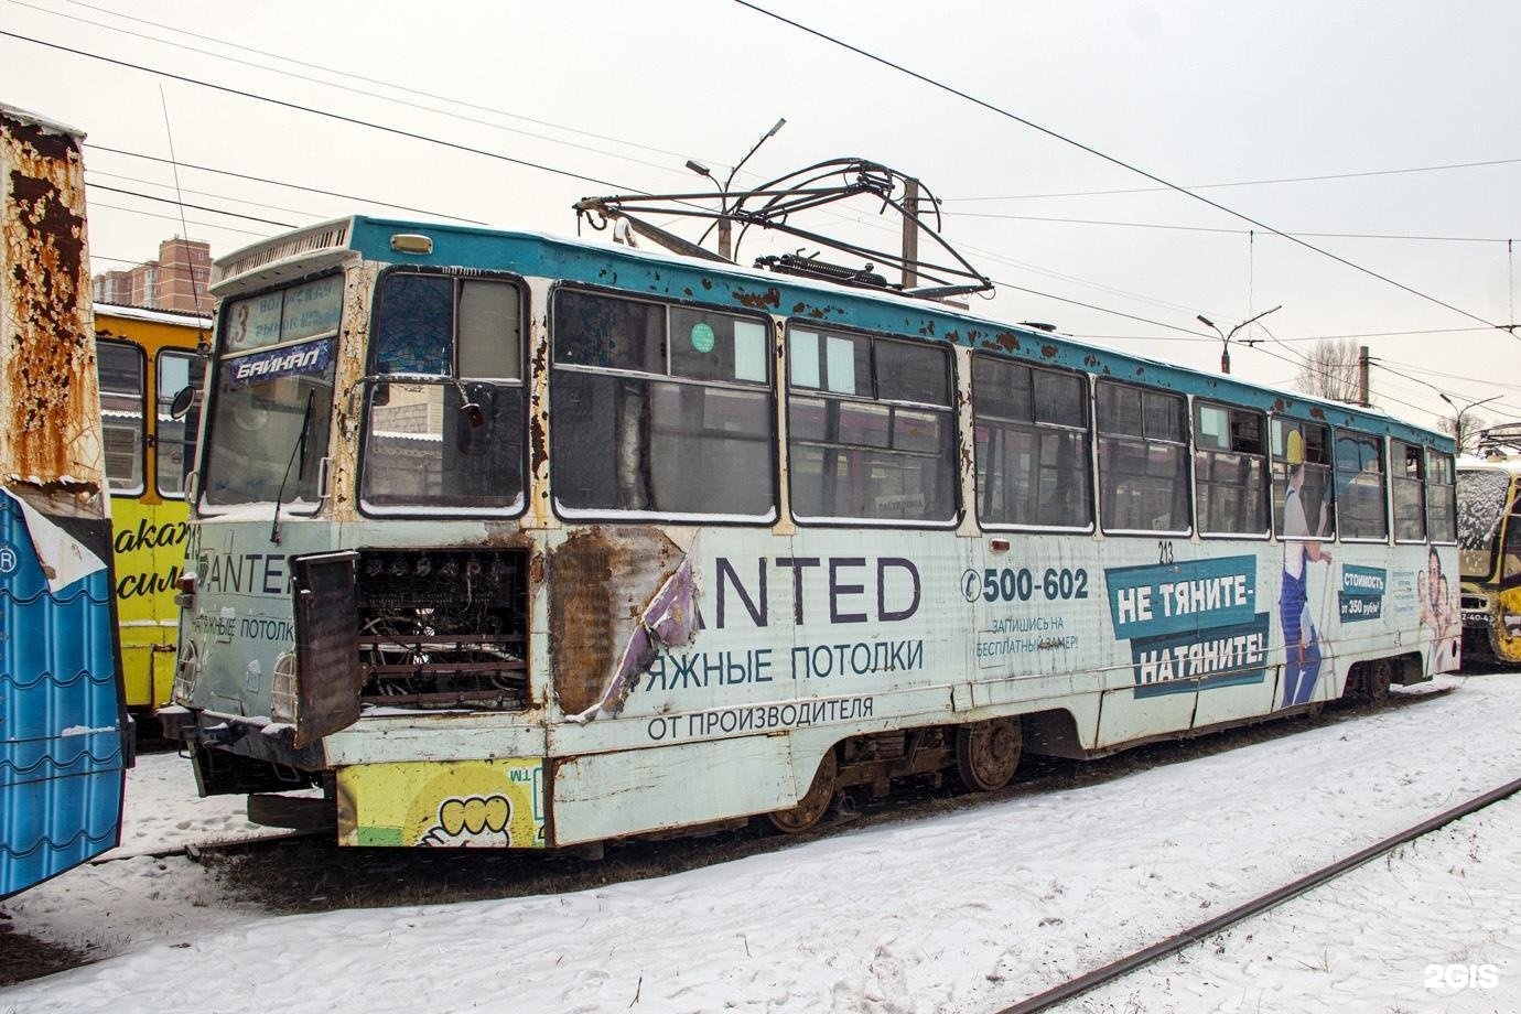
[[[1098,515],[1106,532],[1188,531],[1183,397],[1098,382]]]

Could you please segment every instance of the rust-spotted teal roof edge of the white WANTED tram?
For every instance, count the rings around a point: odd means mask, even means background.
[[[427,236],[432,240],[432,252],[395,252],[391,248],[391,237],[395,234]],[[313,245],[315,237],[327,237],[329,246]],[[336,219],[219,257],[216,260],[219,280],[213,283],[213,292],[219,296],[234,295],[245,290],[239,284],[245,277],[272,278],[284,274],[277,271],[283,263],[281,249],[291,251],[284,260],[304,261],[321,249],[329,254],[351,251],[365,260],[389,265],[564,278],[636,296],[700,303],[741,313],[745,310],[777,313],[817,327],[914,334],[996,351],[1031,365],[1077,369],[1224,404],[1272,410],[1453,450],[1451,436],[1398,420],[1377,407],[1363,409],[1326,401],[1299,391],[1269,388],[1147,356],[1088,345],[1062,334],[978,318],[928,299],[546,233],[370,216]]]

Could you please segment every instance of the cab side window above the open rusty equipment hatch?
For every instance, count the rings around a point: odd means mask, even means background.
[[[522,293],[392,274],[374,315],[360,499],[376,512],[523,508]],[[395,375],[395,380],[385,380]]]

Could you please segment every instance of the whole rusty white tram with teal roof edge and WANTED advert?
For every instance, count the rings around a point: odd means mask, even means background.
[[[1453,441],[890,292],[351,217],[214,266],[175,705],[345,845],[564,847],[1453,669]]]

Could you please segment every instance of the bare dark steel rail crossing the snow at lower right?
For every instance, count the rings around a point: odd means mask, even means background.
[[[1399,845],[1408,844],[1418,838],[1430,835],[1431,832],[1440,830],[1448,824],[1463,819],[1478,813],[1483,809],[1507,800],[1512,795],[1521,792],[1521,778],[1507,781],[1506,784],[1497,786],[1488,792],[1483,792],[1471,800],[1460,803],[1454,807],[1442,810],[1436,816],[1430,816],[1419,824],[1411,824],[1402,832],[1396,832],[1380,842],[1375,842],[1366,848],[1361,848],[1351,856],[1345,856],[1320,870],[1305,874],[1291,883],[1281,888],[1269,891],[1265,894],[1252,898],[1243,905],[1235,906],[1227,912],[1221,912],[1214,918],[1197,923],[1188,929],[1179,930],[1171,936],[1161,940],[1154,944],[1142,947],[1141,950],[1132,952],[1124,958],[1112,961],[1103,967],[1086,971],[1080,976],[1068,979],[1056,987],[1043,990],[1031,997],[1027,997],[1011,1006],[1001,1008],[998,1014],[1037,1014],[1037,1011],[1048,1011],[1059,1003],[1077,999],[1101,985],[1122,979],[1124,976],[1139,971],[1147,965],[1156,964],[1162,958],[1176,955],[1194,944],[1205,943],[1214,933],[1235,926],[1247,918],[1261,915],[1285,902],[1290,902],[1308,891],[1313,891],[1322,885],[1326,885],[1337,877],[1342,877],[1352,870],[1378,859],[1380,856],[1393,851]]]

